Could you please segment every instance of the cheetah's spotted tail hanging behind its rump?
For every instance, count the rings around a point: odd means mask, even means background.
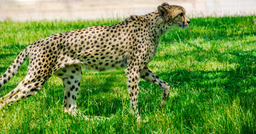
[[[14,75],[17,74],[18,69],[27,59],[27,55],[29,52],[27,51],[27,47],[18,54],[16,59],[12,62],[12,64],[7,68],[6,72],[0,76],[0,88],[6,84]]]

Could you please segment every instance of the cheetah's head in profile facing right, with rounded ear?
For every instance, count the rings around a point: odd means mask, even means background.
[[[164,2],[157,7],[157,10],[167,25],[184,29],[190,23],[189,18],[185,15],[185,9],[181,6],[169,5]]]

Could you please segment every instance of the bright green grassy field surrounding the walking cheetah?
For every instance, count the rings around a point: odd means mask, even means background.
[[[254,16],[192,18],[160,39],[148,67],[171,86],[161,106],[161,88],[141,79],[139,113],[129,114],[124,69],[83,70],[78,107],[85,121],[62,112],[62,80],[52,76],[40,92],[13,104],[0,117],[0,133],[256,133],[256,25]],[[0,75],[35,40],[58,32],[122,20],[0,22]],[[28,60],[0,89],[10,92],[26,75]],[[0,112],[1,113],[1,112]]]

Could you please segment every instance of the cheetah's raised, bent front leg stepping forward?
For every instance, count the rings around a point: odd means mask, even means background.
[[[147,68],[147,66],[145,66],[141,70],[140,76],[141,76],[142,79],[145,79],[145,80],[147,80],[148,82],[151,82],[151,83],[155,83],[155,84],[159,85],[159,87],[162,88],[162,100],[163,100],[163,103],[166,103],[167,98],[169,96],[169,92],[170,92],[170,85],[168,83],[166,83],[164,80],[160,79],[159,76],[152,73],[152,71],[150,71]]]

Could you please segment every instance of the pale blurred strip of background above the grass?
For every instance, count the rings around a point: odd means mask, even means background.
[[[256,15],[256,0],[0,0],[0,21],[125,18],[162,2],[183,6],[188,17]]]

